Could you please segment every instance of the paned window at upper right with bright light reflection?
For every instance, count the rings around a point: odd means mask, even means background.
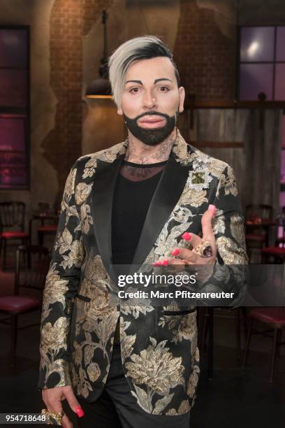
[[[285,27],[240,27],[238,97],[285,100]]]

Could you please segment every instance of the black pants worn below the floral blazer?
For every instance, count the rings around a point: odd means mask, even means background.
[[[124,376],[120,346],[114,345],[112,362],[104,390],[90,404],[78,401],[85,412],[78,418],[80,428],[189,428],[190,412],[184,415],[151,415],[140,408]]]

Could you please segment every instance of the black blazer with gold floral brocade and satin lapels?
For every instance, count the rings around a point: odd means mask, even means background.
[[[100,396],[119,320],[122,364],[134,399],[147,413],[187,413],[199,376],[196,311],[120,306],[111,298],[111,215],[127,141],[80,157],[66,180],[41,320],[38,387],[72,385],[76,395]],[[142,228],[133,264],[169,257],[185,231],[198,234],[209,204],[217,263],[224,275],[207,290],[240,292],[231,265],[247,264],[242,217],[231,166],[187,144],[180,133]],[[218,278],[219,277],[219,278]],[[233,302],[235,306],[235,302]]]

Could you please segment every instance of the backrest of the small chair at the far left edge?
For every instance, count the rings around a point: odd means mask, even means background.
[[[0,227],[20,227],[24,231],[24,202],[0,202]]]

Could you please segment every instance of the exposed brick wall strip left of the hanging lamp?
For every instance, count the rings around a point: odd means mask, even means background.
[[[82,38],[112,0],[55,0],[50,17],[50,85],[57,97],[55,126],[43,141],[44,155],[59,180],[57,202],[82,138]]]

